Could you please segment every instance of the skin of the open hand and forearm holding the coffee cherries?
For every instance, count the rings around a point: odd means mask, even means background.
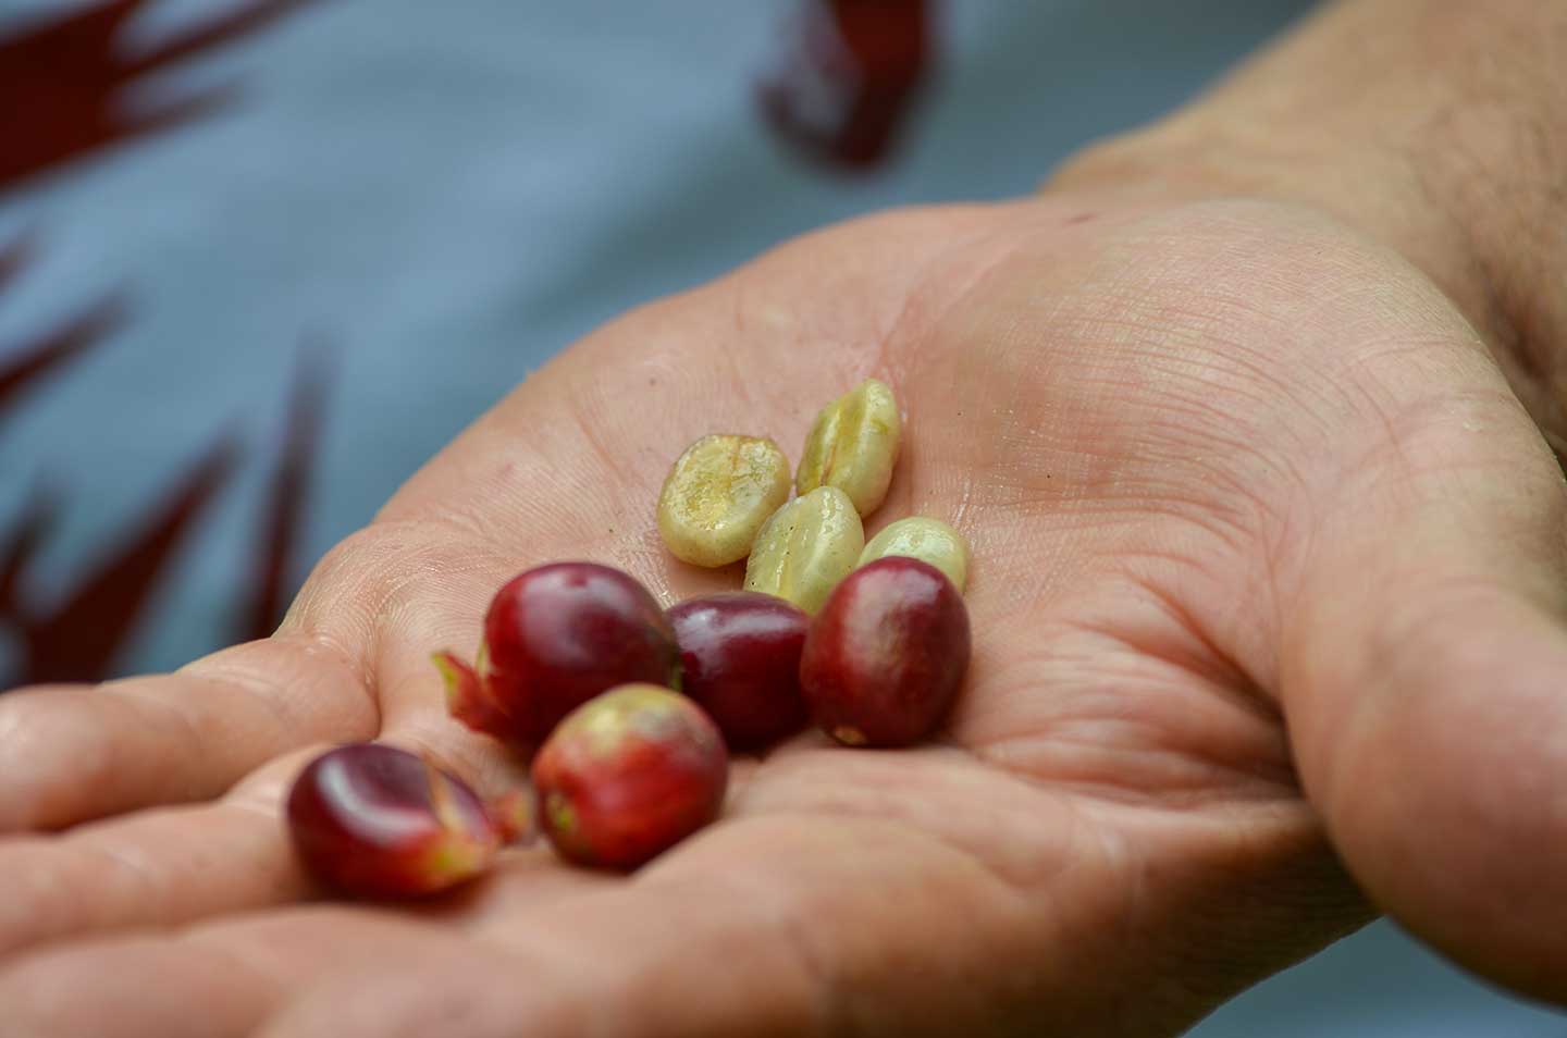
[[[856,221],[638,310],[418,472],[274,638],[0,699],[9,1033],[1169,1035],[1376,911],[1567,1000],[1567,162],[1528,130],[1567,25],[1478,6],[1335,6],[1039,198]],[[277,811],[312,749],[517,781],[443,717],[431,648],[552,558],[738,585],[658,547],[669,459],[801,442],[870,375],[909,414],[871,532],[950,516],[976,561],[934,745],[802,735],[632,878],[533,848],[434,905],[309,900]]]

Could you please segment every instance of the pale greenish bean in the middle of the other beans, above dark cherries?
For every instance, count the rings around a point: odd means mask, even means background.
[[[863,547],[854,502],[835,486],[820,486],[779,508],[757,533],[746,591],[776,594],[815,613]]]

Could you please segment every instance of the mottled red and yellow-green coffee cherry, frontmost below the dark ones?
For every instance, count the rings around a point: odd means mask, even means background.
[[[693,699],[646,684],[580,706],[533,759],[550,844],[602,869],[635,869],[713,822],[727,782],[718,726]]]

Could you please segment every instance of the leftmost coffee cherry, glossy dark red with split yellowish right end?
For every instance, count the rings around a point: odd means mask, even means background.
[[[434,894],[489,870],[525,820],[506,798],[486,806],[462,779],[381,743],[321,754],[288,793],[287,818],[306,869],[342,894]]]

